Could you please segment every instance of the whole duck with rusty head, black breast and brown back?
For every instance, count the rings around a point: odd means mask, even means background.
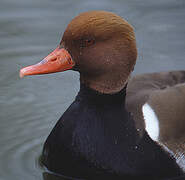
[[[79,179],[185,177],[185,71],[131,77],[134,28],[108,11],[68,24],[59,46],[20,77],[78,71],[80,90],[46,139],[42,163]]]

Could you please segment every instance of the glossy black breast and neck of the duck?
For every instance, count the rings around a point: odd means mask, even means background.
[[[138,135],[125,109],[125,96],[126,88],[107,95],[82,85],[45,142],[44,165],[59,174],[88,179],[180,175],[175,160],[147,133]]]

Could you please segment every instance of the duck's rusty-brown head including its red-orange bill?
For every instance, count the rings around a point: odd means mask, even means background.
[[[20,76],[75,70],[86,86],[115,93],[127,83],[137,58],[133,27],[106,11],[81,13],[67,26],[60,45]]]

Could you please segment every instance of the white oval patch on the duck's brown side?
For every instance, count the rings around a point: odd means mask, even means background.
[[[144,104],[142,107],[143,116],[145,120],[145,130],[148,132],[148,135],[154,141],[158,141],[159,137],[159,121],[149,104]]]

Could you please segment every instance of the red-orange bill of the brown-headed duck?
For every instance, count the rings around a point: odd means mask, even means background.
[[[72,69],[74,65],[75,63],[69,52],[64,48],[57,47],[41,62],[22,68],[20,77],[66,71]]]

